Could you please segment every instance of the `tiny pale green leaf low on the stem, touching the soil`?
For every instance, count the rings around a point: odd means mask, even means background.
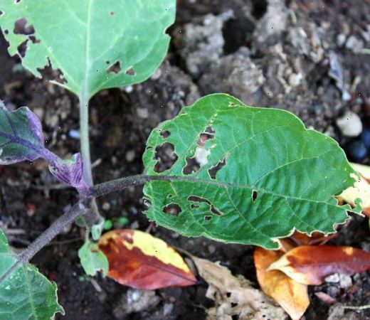
[[[85,241],[84,245],[78,250],[78,257],[80,257],[81,265],[86,274],[95,276],[100,271],[104,276],[107,274],[109,262],[96,243],[90,240]]]

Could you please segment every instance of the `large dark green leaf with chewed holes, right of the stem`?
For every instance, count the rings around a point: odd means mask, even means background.
[[[158,173],[171,145],[178,159]],[[203,97],[152,131],[143,158],[149,175],[177,177],[146,183],[146,214],[181,235],[276,249],[295,229],[333,233],[348,218],[334,198],[354,183],[344,151],[283,110]]]

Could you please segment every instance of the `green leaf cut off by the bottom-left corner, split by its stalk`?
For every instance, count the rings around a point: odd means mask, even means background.
[[[16,256],[0,230],[0,276],[15,261]],[[33,265],[18,267],[0,283],[0,320],[51,319],[57,312],[64,314],[58,304],[56,284]]]

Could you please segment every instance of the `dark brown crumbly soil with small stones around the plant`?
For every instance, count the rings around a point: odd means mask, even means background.
[[[307,127],[329,134],[345,149],[358,138],[344,137],[336,125],[338,117],[351,110],[364,127],[369,127],[370,55],[361,51],[370,48],[369,0],[178,3],[176,23],[169,30],[173,41],[162,67],[142,84],[104,90],[91,101],[95,182],[141,174],[141,156],[151,130],[176,116],[184,105],[211,92],[229,92],[250,105],[290,110]],[[270,26],[273,30],[268,29]],[[27,73],[17,58],[9,57],[6,47],[0,38],[1,99],[10,109],[27,105],[38,114],[52,151],[62,157],[77,152],[77,99]],[[330,75],[332,55],[339,61],[342,87]],[[44,74],[46,79],[53,77],[51,70]],[[349,97],[343,99],[346,92]],[[361,161],[369,164],[369,157]],[[0,188],[0,225],[11,245],[19,249],[48,228],[77,198],[73,190],[60,188],[43,161],[0,166]],[[106,218],[127,217],[128,228],[146,230],[149,226],[141,213],[141,188],[105,196],[98,204],[105,209]],[[152,234],[198,257],[221,261],[258,287],[252,246],[183,238],[156,226]],[[145,294],[111,279],[83,277],[77,256],[82,239],[83,230],[70,225],[32,260],[58,284],[66,314],[56,319],[206,319],[212,302],[205,297],[205,282]],[[354,217],[332,243],[370,251],[367,220]],[[370,309],[329,309],[315,292],[325,292],[344,305],[369,304],[369,272],[351,277],[347,289],[328,282],[310,287],[311,304],[303,319],[370,319]],[[142,299],[142,306],[127,306],[132,296]]]

